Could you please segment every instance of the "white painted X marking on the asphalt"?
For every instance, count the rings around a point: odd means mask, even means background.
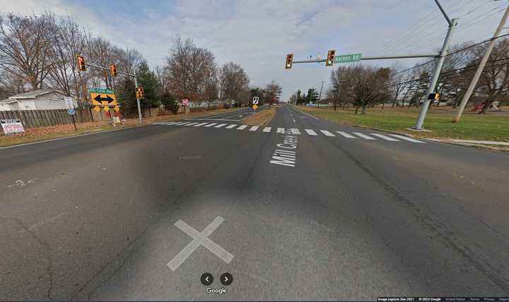
[[[185,232],[185,234],[191,236],[193,240],[185,246],[184,249],[180,251],[170,262],[168,262],[168,267],[170,267],[170,270],[175,272],[177,268],[196,250],[199,246],[204,246],[208,250],[210,250],[214,255],[218,256],[218,258],[221,258],[226,263],[230,263],[231,260],[233,260],[233,255],[228,252],[228,250],[225,250],[224,248],[221,248],[221,246],[218,246],[216,243],[211,241],[208,237],[212,234],[213,231],[219,227],[224,221],[223,217],[216,217],[216,219],[213,219],[213,222],[211,222],[201,233],[194,229],[193,227],[189,226],[189,224],[183,222],[182,220],[179,220],[175,222],[175,226],[177,228],[181,229]]]

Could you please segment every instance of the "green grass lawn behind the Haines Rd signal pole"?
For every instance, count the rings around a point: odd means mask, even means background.
[[[432,107],[426,115],[424,128],[429,132],[410,131],[419,116],[416,107],[373,107],[366,114],[356,114],[355,109],[337,110],[331,107],[303,107],[298,109],[334,123],[345,123],[373,129],[410,133],[421,138],[455,138],[463,140],[494,140],[509,142],[509,108],[502,112],[476,114],[465,112],[460,123],[452,123],[456,111],[450,107]]]

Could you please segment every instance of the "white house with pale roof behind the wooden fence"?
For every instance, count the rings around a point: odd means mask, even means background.
[[[60,90],[41,89],[13,95],[0,100],[0,111],[68,109],[66,95]],[[77,107],[73,98],[74,107]]]

